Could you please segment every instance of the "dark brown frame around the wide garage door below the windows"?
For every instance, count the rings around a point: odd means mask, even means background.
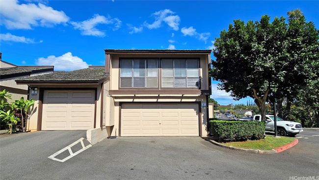
[[[199,128],[198,128],[198,134],[199,134],[199,136],[202,136],[202,116],[201,116],[201,114],[202,114],[202,108],[201,108],[201,101],[192,101],[192,102],[130,102],[130,101],[128,101],[128,102],[120,102],[119,103],[119,105],[120,105],[120,108],[119,108],[119,131],[118,131],[118,133],[119,133],[119,136],[121,136],[121,117],[122,117],[122,115],[121,115],[121,109],[122,109],[122,104],[124,104],[124,103],[130,103],[130,104],[141,104],[141,103],[144,103],[144,104],[154,104],[154,103],[161,103],[161,104],[176,104],[176,103],[179,103],[179,104],[192,104],[192,103],[194,103],[194,104],[198,104],[198,111],[199,111],[199,113],[198,113],[198,125],[199,125]]]

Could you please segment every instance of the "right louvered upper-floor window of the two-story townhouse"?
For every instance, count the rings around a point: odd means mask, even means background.
[[[161,60],[161,87],[196,88],[199,87],[198,59]]]

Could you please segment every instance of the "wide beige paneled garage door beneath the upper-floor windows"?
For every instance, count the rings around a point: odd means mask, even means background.
[[[121,136],[199,136],[197,103],[123,103]]]

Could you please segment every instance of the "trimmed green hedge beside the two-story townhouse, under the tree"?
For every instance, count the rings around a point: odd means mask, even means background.
[[[210,132],[219,142],[258,140],[265,137],[265,123],[243,120],[210,120]]]

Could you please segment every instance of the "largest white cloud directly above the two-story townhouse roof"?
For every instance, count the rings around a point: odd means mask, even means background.
[[[161,23],[164,22],[173,30],[179,30],[181,19],[178,15],[173,14],[175,14],[175,12],[171,11],[170,9],[157,11],[152,14],[155,17],[155,21],[152,24],[148,24],[147,22],[144,24],[148,29],[152,30],[160,28]]]

